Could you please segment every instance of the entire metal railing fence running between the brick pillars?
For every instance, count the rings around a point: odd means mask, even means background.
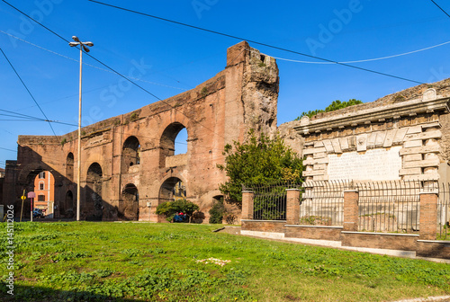
[[[254,191],[253,219],[285,220],[286,189],[302,191],[300,224],[337,226],[344,223],[344,191],[359,192],[358,231],[419,233],[420,192],[437,191],[437,239],[450,239],[450,184],[423,181],[274,182],[243,186]]]

